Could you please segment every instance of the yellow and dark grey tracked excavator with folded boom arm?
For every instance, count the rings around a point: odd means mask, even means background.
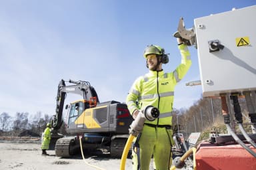
[[[66,85],[66,83],[69,85]],[[77,94],[82,100],[65,106],[68,136],[59,133],[63,126],[63,108],[67,94]],[[115,100],[99,102],[97,92],[87,81],[61,80],[57,89],[56,114],[51,120],[50,149],[58,157],[70,157],[83,149],[101,149],[111,157],[121,157],[133,118],[127,105]],[[80,143],[81,142],[81,143]]]

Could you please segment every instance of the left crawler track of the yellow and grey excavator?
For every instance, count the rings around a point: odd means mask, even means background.
[[[61,138],[56,141],[55,155],[57,157],[70,157],[69,146],[71,138]]]

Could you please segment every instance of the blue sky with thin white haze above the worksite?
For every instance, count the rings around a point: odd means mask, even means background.
[[[143,50],[158,44],[170,53],[163,66],[173,71],[180,54],[173,33],[180,17],[194,19],[255,5],[249,0],[0,1],[0,114],[55,114],[59,80],[86,80],[100,102],[125,102],[131,84],[148,72]],[[189,108],[201,98],[197,50],[193,65],[175,89],[174,107]],[[79,96],[80,98],[80,96]],[[68,101],[68,100],[67,100]]]

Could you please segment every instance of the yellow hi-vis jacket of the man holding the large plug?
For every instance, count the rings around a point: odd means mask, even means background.
[[[135,80],[126,99],[129,112],[143,110],[147,106],[154,106],[159,109],[158,119],[147,124],[171,125],[174,88],[187,73],[191,66],[190,53],[185,44],[179,45],[181,52],[181,64],[173,71],[164,73],[151,71]]]

